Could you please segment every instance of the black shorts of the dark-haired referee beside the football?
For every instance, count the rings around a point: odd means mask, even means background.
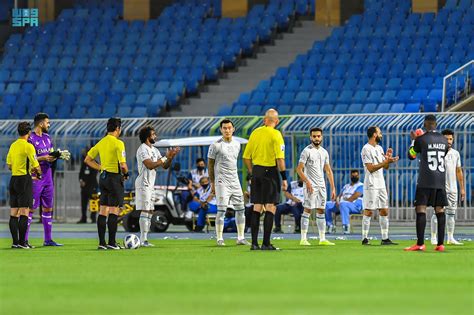
[[[120,207],[123,205],[124,188],[121,174],[102,172],[99,188],[101,206]]]

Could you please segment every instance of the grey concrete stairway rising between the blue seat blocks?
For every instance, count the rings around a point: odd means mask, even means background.
[[[275,73],[278,67],[287,66],[298,54],[308,51],[315,41],[324,40],[331,28],[319,26],[314,21],[297,21],[292,33],[283,33],[274,46],[264,46],[256,59],[248,58],[236,72],[228,72],[218,85],[209,85],[199,97],[189,99],[189,104],[171,111],[172,117],[215,115],[222,104],[232,104],[243,92]]]

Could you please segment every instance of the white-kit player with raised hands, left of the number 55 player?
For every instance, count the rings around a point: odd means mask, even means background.
[[[364,215],[362,216],[362,245],[370,245],[368,235],[372,212],[379,211],[379,223],[382,233],[380,245],[398,245],[388,238],[388,194],[385,187],[383,170],[390,167],[390,164],[398,161],[398,156],[392,156],[392,148],[388,148],[385,154],[380,142],[382,141],[382,131],[379,127],[372,126],[367,129],[369,141],[364,145],[361,152],[362,163],[364,164],[364,196],[362,203]]]

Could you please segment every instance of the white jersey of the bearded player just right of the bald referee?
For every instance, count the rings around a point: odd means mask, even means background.
[[[326,188],[324,166],[329,164],[329,154],[322,146],[316,148],[310,144],[301,152],[299,163],[304,164],[304,174],[313,187]]]

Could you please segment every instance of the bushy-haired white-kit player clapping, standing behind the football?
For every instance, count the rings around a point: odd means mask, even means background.
[[[142,143],[137,150],[138,176],[135,180],[135,209],[140,211],[140,241],[141,246],[154,246],[148,242],[151,217],[155,210],[153,192],[155,187],[156,169],[163,167],[167,169],[171,161],[180,151],[172,148],[162,157],[160,151],[153,146],[156,141],[156,133],[153,127],[145,126],[139,133]]]

